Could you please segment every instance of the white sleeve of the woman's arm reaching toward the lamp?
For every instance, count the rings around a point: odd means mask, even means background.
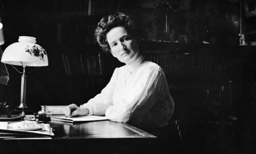
[[[90,99],[87,103],[80,107],[88,108],[89,115],[100,116],[104,115],[106,109],[113,105],[113,93],[116,86],[118,68],[115,69],[110,82],[102,89],[101,93]]]

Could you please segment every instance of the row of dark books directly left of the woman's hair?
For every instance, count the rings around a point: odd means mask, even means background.
[[[94,44],[96,39],[94,31],[96,25],[83,24],[57,24],[57,42],[80,42],[85,44]]]

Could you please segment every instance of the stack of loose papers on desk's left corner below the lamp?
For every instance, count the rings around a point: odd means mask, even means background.
[[[0,139],[52,139],[49,124],[36,121],[0,122]]]

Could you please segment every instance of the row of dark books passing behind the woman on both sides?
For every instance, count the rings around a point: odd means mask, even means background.
[[[184,53],[144,53],[146,59],[160,65],[167,75],[240,76],[242,57]],[[61,54],[66,75],[111,75],[124,63],[111,54]]]

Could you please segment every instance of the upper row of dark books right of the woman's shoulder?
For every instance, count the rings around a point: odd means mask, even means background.
[[[243,57],[208,54],[146,52],[145,58],[157,63],[165,74],[238,76]]]

